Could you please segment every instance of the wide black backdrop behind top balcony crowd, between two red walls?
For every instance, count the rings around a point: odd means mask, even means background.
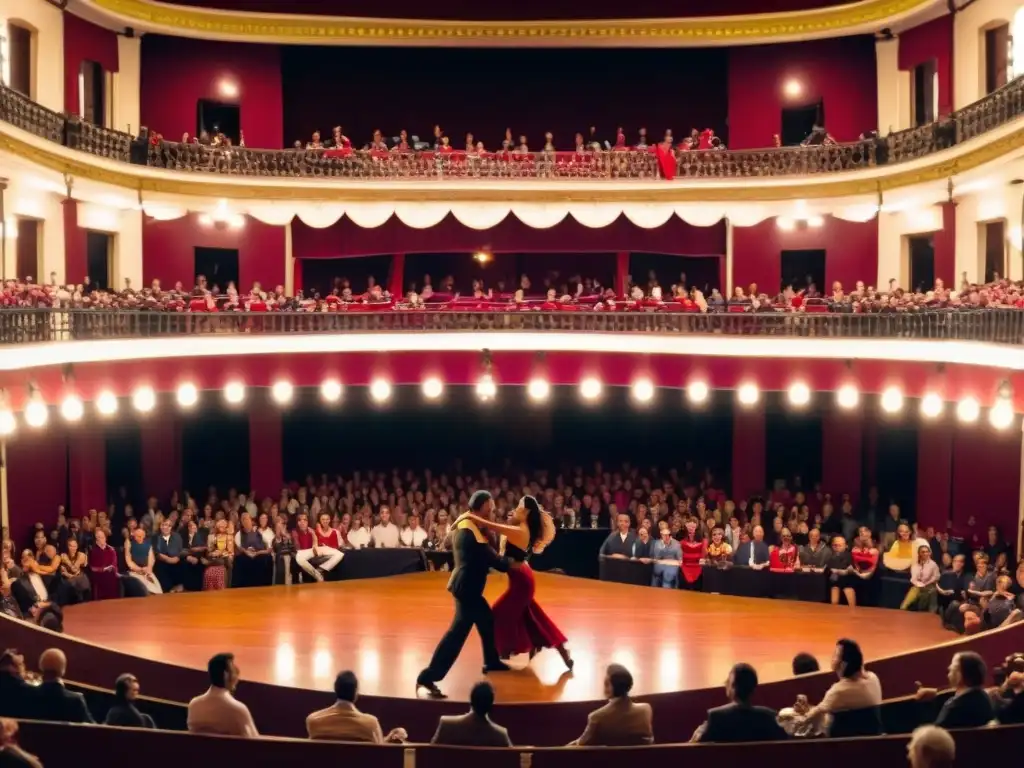
[[[588,126],[660,138],[714,128],[728,138],[723,49],[466,49],[284,47],[285,139],[307,141],[342,125],[356,146],[374,129],[427,140],[440,124],[453,145],[466,132],[498,148],[511,128],[541,150],[545,131],[571,150]],[[770,136],[769,136],[770,139]]]

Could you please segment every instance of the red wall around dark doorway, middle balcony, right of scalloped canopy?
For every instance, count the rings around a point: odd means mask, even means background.
[[[825,217],[824,225],[811,228],[800,225],[793,231],[783,231],[775,219],[767,219],[756,226],[736,226],[732,229],[732,282],[745,290],[757,283],[763,293],[778,290],[782,279],[782,251],[825,250],[824,292],[834,281],[840,281],[846,290],[862,280],[873,284],[878,276],[879,224],[877,219],[865,222],[844,221]]]

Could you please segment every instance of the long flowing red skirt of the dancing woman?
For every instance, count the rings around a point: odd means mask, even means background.
[[[526,563],[509,571],[509,587],[492,607],[498,655],[511,656],[565,644],[565,635],[537,604],[537,583]]]

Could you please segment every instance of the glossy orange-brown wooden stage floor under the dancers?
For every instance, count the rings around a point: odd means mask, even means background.
[[[67,609],[65,632],[154,660],[205,669],[236,654],[243,678],[330,690],[343,669],[366,694],[411,698],[417,673],[452,618],[446,573],[110,600]],[[605,665],[626,665],[634,693],[722,684],[731,665],[753,664],[763,682],[791,676],[800,651],[827,669],[836,640],[856,639],[868,659],[954,639],[934,615],[883,608],[722,597],[538,574],[538,599],[569,638],[572,675],[554,650],[516,672],[492,675],[500,701],[602,698]],[[494,574],[487,598],[505,588]],[[442,681],[465,700],[480,678],[474,632]],[[112,681],[113,684],[113,681]],[[142,681],[143,692],[145,681]]]

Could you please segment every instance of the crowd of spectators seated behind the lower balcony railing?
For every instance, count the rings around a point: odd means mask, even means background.
[[[40,285],[31,276],[8,280],[0,291],[0,310],[10,308],[127,309],[167,312],[337,312],[346,310],[543,310],[543,311],[675,311],[675,312],[837,312],[853,314],[918,313],[935,310],[981,310],[1024,307],[1024,282],[1010,281],[995,274],[985,284],[971,283],[963,276],[958,289],[947,288],[937,279],[931,287],[905,289],[890,280],[886,288],[857,281],[852,290],[836,281],[827,293],[819,290],[808,275],[804,282],[786,282],[781,290],[766,293],[753,283],[736,286],[726,297],[718,288],[701,290],[687,283],[685,272],[669,287],[663,287],[653,271],[646,282],[629,281],[624,294],[595,278],[580,274],[562,276],[548,271],[540,285],[522,274],[518,284],[498,280],[489,286],[474,279],[468,286],[457,286],[451,274],[439,279],[423,275],[409,286],[403,296],[392,295],[371,275],[364,286],[353,287],[347,278],[336,278],[326,292],[298,291],[288,296],[284,286],[273,289],[255,283],[240,291],[232,282],[211,284],[197,275],[195,286],[180,281],[164,286],[154,280],[148,287],[135,289],[130,281],[120,290],[91,284],[88,276],[81,284],[57,285],[55,275]]]

